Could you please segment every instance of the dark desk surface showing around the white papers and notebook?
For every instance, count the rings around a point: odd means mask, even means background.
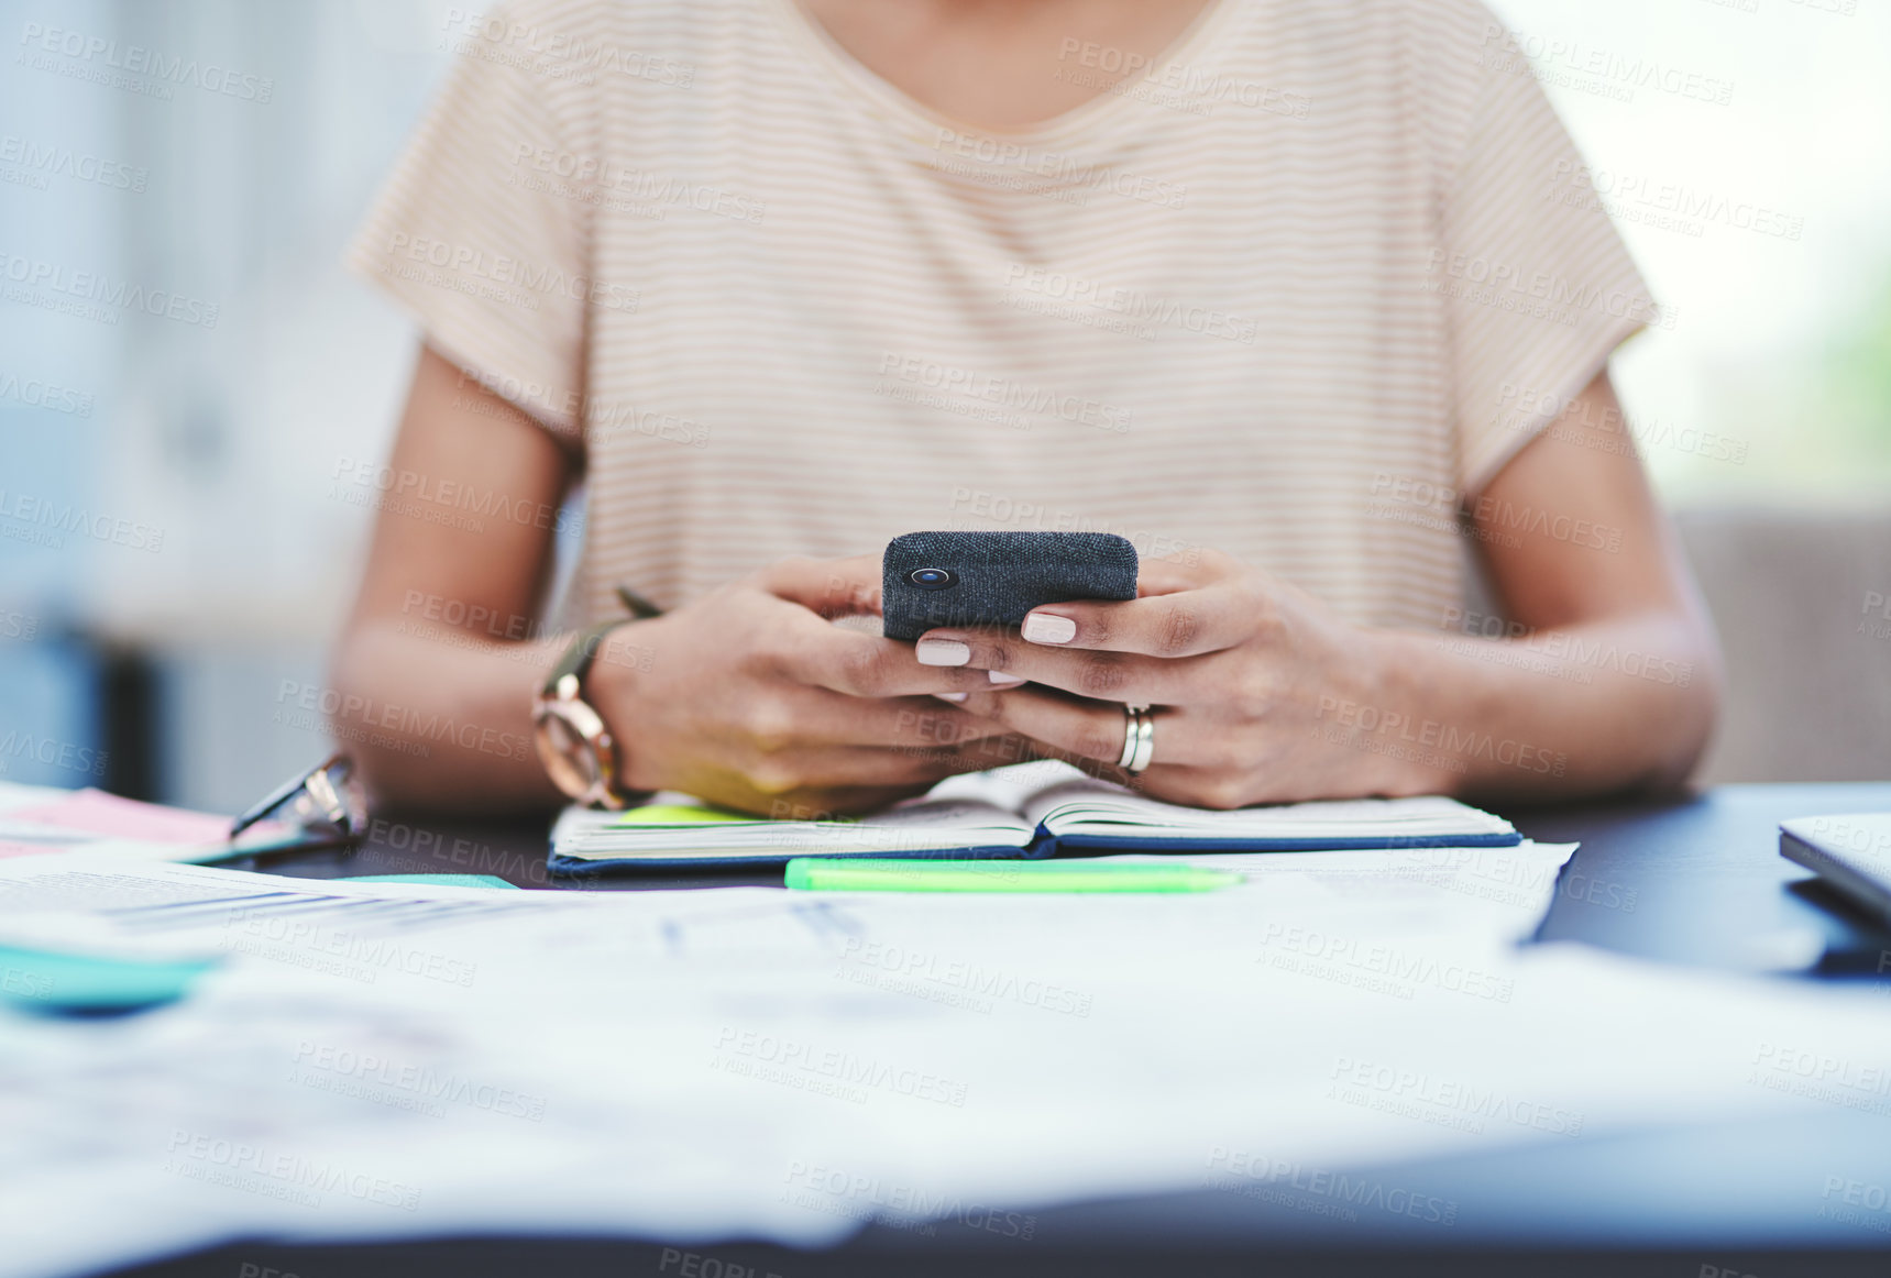
[[[1543,841],[1581,841],[1558,879],[1541,940],[1581,940],[1668,962],[1783,970],[1823,945],[1810,979],[1882,981],[1891,934],[1815,889],[1778,855],[1791,817],[1891,811],[1891,785],[1725,786],[1685,800],[1507,813]],[[255,868],[306,877],[494,873],[556,889],[545,820],[376,819],[350,853],[308,853]],[[779,883],[779,873],[637,877],[592,889]],[[1785,977],[1806,979],[1806,977]],[[1885,1004],[1891,1015],[1891,1000]],[[930,1235],[870,1227],[832,1252],[622,1238],[439,1240],[363,1246],[246,1242],[127,1270],[301,1278],[556,1272],[779,1278],[807,1274],[1874,1274],[1891,1272],[1891,1210],[1846,1206],[1838,1182],[1891,1189],[1891,1104],[1793,1121],[1651,1131],[1556,1148],[1360,1168],[1388,1187],[1458,1204],[1450,1229],[1396,1214],[1341,1223],[1327,1200],[1282,1185],[1267,1197],[1195,1191],[1084,1202],[1036,1216],[1029,1242],[980,1221]],[[1273,1189],[1273,1185],[1269,1185]],[[1874,1202],[1878,1199],[1872,1199]],[[666,1250],[668,1248],[668,1250]],[[694,1253],[694,1263],[685,1259]],[[711,1265],[709,1261],[717,1261]],[[246,1269],[255,1265],[257,1269]]]

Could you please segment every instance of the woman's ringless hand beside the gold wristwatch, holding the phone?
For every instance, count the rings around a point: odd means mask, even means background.
[[[938,694],[983,669],[921,665],[913,645],[834,626],[879,614],[879,560],[785,560],[609,633],[588,694],[618,781],[813,819],[885,805],[942,777],[1032,758]]]

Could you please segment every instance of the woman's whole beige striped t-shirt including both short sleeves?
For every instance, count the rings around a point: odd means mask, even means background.
[[[1475,0],[1218,0],[1019,134],[915,104],[792,0],[529,0],[442,36],[352,265],[582,454],[571,620],[981,527],[1214,546],[1431,628],[1460,503],[1660,321]],[[1067,42],[1055,74],[1123,64]]]

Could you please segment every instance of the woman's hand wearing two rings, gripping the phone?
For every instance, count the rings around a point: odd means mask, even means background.
[[[927,665],[993,671],[972,715],[1154,798],[1203,807],[1449,788],[1392,705],[1386,645],[1223,554],[1142,563],[1140,597],[1050,603],[1021,631],[932,630]],[[1017,681],[1029,681],[1019,686]],[[1119,768],[1125,705],[1152,705],[1146,771]],[[1392,732],[1386,717],[1392,715]]]

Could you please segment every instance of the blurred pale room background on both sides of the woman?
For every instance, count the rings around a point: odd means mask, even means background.
[[[1615,376],[1728,648],[1706,779],[1891,777],[1891,11],[1494,8],[1679,314]],[[0,779],[234,811],[327,749],[414,354],[338,257],[463,21],[0,0]]]

